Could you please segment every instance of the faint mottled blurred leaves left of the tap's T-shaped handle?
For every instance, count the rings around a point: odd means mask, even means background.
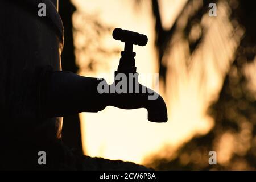
[[[106,57],[120,52],[119,49],[110,49],[105,44],[105,40],[112,36],[113,30],[114,27],[103,23],[98,14],[79,10],[75,12],[73,15],[75,55],[80,71],[88,73],[96,71],[99,67],[108,68]]]

